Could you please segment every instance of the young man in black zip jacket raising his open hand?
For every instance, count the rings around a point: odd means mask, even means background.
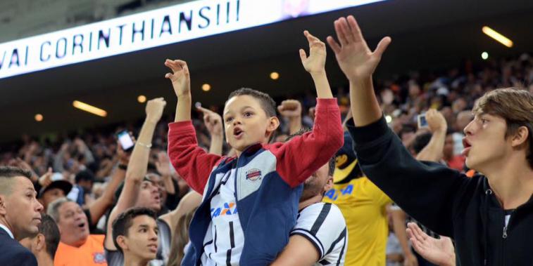
[[[413,218],[452,237],[460,265],[532,265],[532,93],[498,89],[477,100],[463,155],[484,175],[467,178],[413,159],[383,119],[372,73],[391,39],[372,52],[353,16],[334,27],[340,44],[327,41],[350,81],[348,128],[363,172]]]

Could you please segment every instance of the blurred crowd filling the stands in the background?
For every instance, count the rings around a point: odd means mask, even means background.
[[[528,54],[483,62],[466,60],[462,65],[444,72],[404,73],[388,80],[378,80],[375,84],[387,123],[413,155],[420,153],[432,137],[432,125],[418,128],[418,115],[425,114],[429,109],[437,109],[442,114],[447,130],[439,160],[459,171],[468,171],[465,159],[460,155],[463,149],[461,139],[463,128],[472,120],[470,110],[475,99],[495,88],[510,86],[524,87],[533,93],[533,58]],[[349,113],[348,93],[347,87],[334,89],[343,120]],[[297,112],[301,114],[303,126],[313,126],[316,104],[313,93],[303,93],[293,99],[301,102],[301,109]],[[275,100],[281,102],[286,99]],[[210,109],[220,112],[222,107],[212,106]],[[275,140],[283,141],[289,135],[290,115],[282,113],[282,125],[276,132]],[[210,132],[202,117],[201,113],[194,112],[193,124],[199,146],[208,150]],[[158,215],[174,210],[189,192],[189,187],[174,171],[167,156],[170,121],[173,121],[172,117],[163,116],[156,125],[148,159],[148,173],[153,173],[158,179],[157,198],[161,201]],[[89,210],[86,215],[92,233],[106,232],[106,219],[117,204],[120,182],[124,179],[116,171],[120,168],[125,170],[130,160],[129,152],[122,149],[116,134],[129,131],[132,136],[137,136],[141,126],[140,121],[128,121],[122,125],[84,128],[76,133],[58,133],[54,138],[29,133],[17,142],[1,144],[0,166],[18,166],[32,171],[32,182],[45,212],[52,201],[67,197],[82,209]],[[227,152],[230,149],[225,145],[223,154]],[[391,255],[389,265],[403,263],[406,254],[394,237],[389,237],[388,252],[399,253],[400,256]]]

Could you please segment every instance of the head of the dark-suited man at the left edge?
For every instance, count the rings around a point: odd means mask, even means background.
[[[4,178],[3,178],[4,179]],[[17,176],[8,180],[8,193],[0,194],[0,218],[11,229],[15,239],[34,237],[39,232],[43,206],[37,201],[29,178]]]

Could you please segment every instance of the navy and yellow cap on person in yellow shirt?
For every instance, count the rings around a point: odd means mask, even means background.
[[[335,154],[333,181],[346,182],[360,176],[363,176],[363,173],[357,164],[356,152],[353,151],[353,140],[350,133],[344,132],[344,145]]]

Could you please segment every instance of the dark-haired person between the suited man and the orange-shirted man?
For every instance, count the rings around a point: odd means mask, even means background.
[[[61,234],[56,222],[50,215],[42,213],[39,233],[35,237],[26,237],[19,242],[32,251],[39,266],[54,266],[54,257],[60,240]]]

